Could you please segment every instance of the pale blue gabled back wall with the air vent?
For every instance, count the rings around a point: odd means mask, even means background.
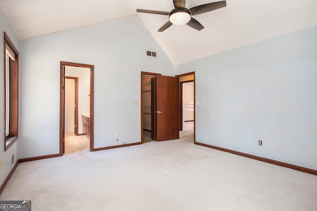
[[[147,57],[146,50],[157,51],[158,58]],[[174,73],[173,64],[137,16],[24,40],[20,54],[19,158],[59,152],[60,61],[95,66],[95,148],[141,141],[141,71]]]

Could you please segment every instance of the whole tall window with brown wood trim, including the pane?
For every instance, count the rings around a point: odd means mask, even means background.
[[[18,139],[19,53],[4,32],[4,146]]]

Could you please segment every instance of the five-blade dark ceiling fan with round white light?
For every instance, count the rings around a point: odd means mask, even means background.
[[[205,27],[200,24],[196,19],[192,18],[192,15],[198,15],[205,12],[210,12],[215,9],[219,9],[225,7],[226,1],[217,1],[212,3],[206,3],[199,6],[194,6],[190,9],[185,8],[186,0],[173,0],[174,7],[170,12],[164,11],[157,11],[157,10],[147,10],[147,9],[137,9],[137,12],[144,12],[144,13],[152,13],[152,14],[159,14],[159,15],[168,15],[169,20],[159,28],[158,32],[162,32],[172,24],[175,25],[184,25],[187,24],[188,26],[200,31]]]

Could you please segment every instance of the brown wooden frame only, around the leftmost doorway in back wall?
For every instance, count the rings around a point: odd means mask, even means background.
[[[64,146],[64,138],[65,138],[65,131],[63,128],[65,123],[65,115],[64,115],[65,70],[64,70],[64,66],[83,67],[83,68],[90,69],[90,151],[95,151],[95,148],[94,148],[94,65],[60,61],[59,156],[63,155],[63,146]]]

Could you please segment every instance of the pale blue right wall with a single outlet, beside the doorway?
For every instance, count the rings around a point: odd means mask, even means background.
[[[317,169],[317,26],[175,67],[191,71],[196,141]]]

